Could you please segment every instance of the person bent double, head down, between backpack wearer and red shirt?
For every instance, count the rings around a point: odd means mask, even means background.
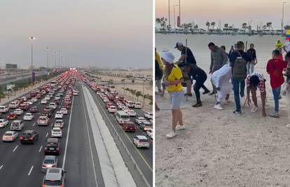
[[[262,116],[266,116],[265,114],[265,98],[266,98],[266,89],[265,89],[265,78],[263,74],[259,74],[254,72],[251,75],[247,76],[247,104],[251,105],[251,99],[253,99],[254,106],[251,109],[251,112],[256,112],[258,110],[258,102],[257,102],[257,95],[256,90],[260,90],[261,101],[262,101]],[[250,99],[250,92],[251,92],[251,99]]]

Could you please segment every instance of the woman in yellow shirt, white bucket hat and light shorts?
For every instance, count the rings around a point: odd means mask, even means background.
[[[182,113],[180,110],[180,104],[184,97],[183,87],[181,85],[181,83],[184,82],[184,78],[182,76],[181,69],[174,64],[174,55],[172,53],[163,53],[161,60],[165,65],[165,81],[163,82],[163,86],[166,87],[172,104],[172,130],[170,130],[166,137],[172,138],[175,137],[176,130],[184,129],[184,122],[182,120]]]

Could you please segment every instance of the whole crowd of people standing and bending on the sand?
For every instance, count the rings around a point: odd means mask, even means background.
[[[242,113],[240,97],[244,97],[244,90],[247,90],[247,97],[244,104],[254,103],[251,112],[258,111],[258,102],[256,90],[260,91],[262,103],[262,116],[265,113],[266,88],[265,78],[261,72],[256,72],[254,66],[258,63],[254,44],[250,44],[249,50],[245,50],[244,43],[238,41],[235,46],[231,46],[230,51],[226,53],[225,46],[216,46],[209,43],[211,63],[209,65],[209,74],[211,75],[212,92],[205,86],[207,73],[198,67],[198,63],[190,48],[183,43],[177,42],[175,48],[181,52],[181,57],[175,61],[175,57],[170,52],[163,52],[158,55],[156,51],[156,85],[160,95],[165,91],[170,95],[172,104],[172,129],[167,134],[167,138],[175,137],[177,130],[183,130],[186,127],[183,123],[182,112],[180,109],[181,101],[186,97],[192,97],[192,90],[195,93],[196,103],[193,107],[202,106],[200,89],[204,91],[203,95],[214,95],[216,104],[214,109],[223,110],[223,104],[229,102],[230,92],[233,90],[235,99],[235,115]],[[283,57],[283,53],[284,55]],[[288,101],[288,118],[290,123],[290,44],[284,46],[281,41],[277,41],[275,49],[272,51],[272,59],[267,63],[266,71],[270,75],[270,86],[272,88],[272,97],[274,99],[274,109],[269,116],[279,118],[279,99],[286,95]],[[284,78],[286,76],[286,80]],[[184,87],[186,92],[184,93]],[[251,95],[251,97],[250,97]],[[156,111],[159,108],[156,105]],[[290,125],[288,125],[290,127]]]

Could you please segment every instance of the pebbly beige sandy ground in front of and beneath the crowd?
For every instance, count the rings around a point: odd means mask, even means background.
[[[272,93],[267,94],[269,113],[274,104]],[[285,98],[280,100],[279,119],[263,118],[261,108],[251,113],[249,106],[235,116],[233,95],[230,100],[225,110],[217,111],[214,96],[202,95],[203,106],[198,109],[191,107],[195,97],[184,99],[186,130],[166,139],[171,128],[169,97],[156,95],[163,109],[156,113],[156,186],[290,186]]]

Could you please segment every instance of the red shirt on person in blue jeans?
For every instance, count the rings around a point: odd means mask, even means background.
[[[278,88],[284,83],[283,69],[287,67],[287,62],[281,59],[271,59],[267,64],[267,72],[270,74],[270,85],[272,89]]]

